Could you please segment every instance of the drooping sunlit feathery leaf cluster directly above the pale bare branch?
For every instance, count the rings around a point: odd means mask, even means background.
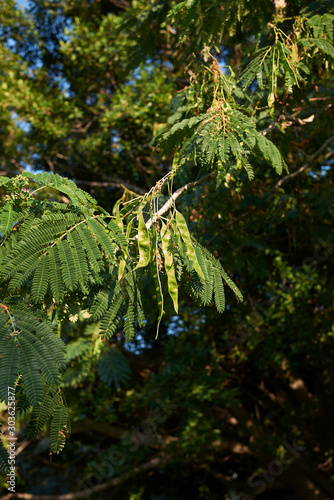
[[[206,113],[162,132],[157,143],[166,154],[179,146],[179,166],[194,162],[206,170],[217,169],[217,186],[227,171],[242,168],[252,180],[254,157],[264,157],[278,174],[285,165],[279,150],[257,130],[253,119],[223,100],[216,101]]]

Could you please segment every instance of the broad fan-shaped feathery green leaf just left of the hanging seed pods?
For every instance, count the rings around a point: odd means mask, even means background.
[[[59,302],[66,292],[86,293],[89,276],[96,278],[106,260],[109,265],[116,263],[116,252],[127,249],[127,240],[115,224],[108,227],[103,218],[86,210],[74,213],[73,207],[57,213],[49,205],[42,213],[39,206],[30,206],[16,223],[18,236],[14,233],[9,238],[0,272],[11,292],[31,286],[36,303],[47,294]]]

